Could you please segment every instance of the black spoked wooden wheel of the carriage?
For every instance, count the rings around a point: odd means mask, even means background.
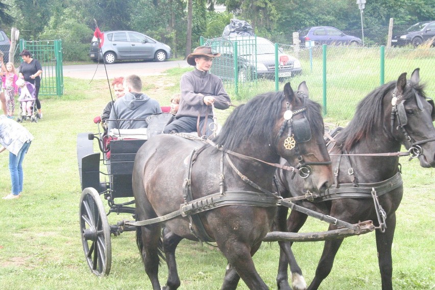
[[[107,276],[112,264],[110,226],[98,192],[83,189],[80,198],[80,233],[88,266],[96,276]]]

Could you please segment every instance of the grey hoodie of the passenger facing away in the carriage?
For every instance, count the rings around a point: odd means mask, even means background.
[[[136,121],[124,120],[119,121],[119,128],[116,121],[109,121],[109,132],[110,129],[137,129],[137,128],[147,128],[148,124],[144,120],[146,117],[161,113],[159,103],[151,99],[148,95],[144,93],[126,93],[123,98],[119,98],[113,104],[110,111],[110,120],[117,119],[141,119]]]

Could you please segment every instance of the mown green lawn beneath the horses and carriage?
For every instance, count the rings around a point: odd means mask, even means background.
[[[143,79],[144,91],[161,105],[169,104],[179,90],[183,71],[175,69],[165,77]],[[353,97],[344,94],[341,98]],[[112,237],[112,270],[108,277],[91,275],[84,259],[78,216],[81,189],[76,136],[96,132],[92,119],[109,100],[107,81],[89,83],[66,78],[63,96],[42,100],[43,119],[37,124],[23,123],[35,139],[23,163],[22,197],[0,200],[0,289],[151,289],[132,232]],[[230,111],[219,112],[219,120],[224,122]],[[393,283],[395,289],[431,289],[435,286],[435,170],[421,168],[416,160],[403,158],[401,163],[405,192],[397,211]],[[5,152],[0,154],[0,192],[6,195],[9,191]],[[111,223],[123,219],[132,218],[128,214],[109,215]],[[325,223],[309,220],[302,231],[326,228]],[[308,283],[322,247],[321,242],[293,247]],[[254,256],[260,276],[271,289],[276,289],[278,255],[277,243],[263,243]],[[184,240],[177,257],[181,290],[220,288],[226,260],[216,248]],[[166,267],[161,267],[159,273],[163,285]],[[243,282],[238,288],[247,289]],[[380,289],[373,233],[345,239],[321,289]]]

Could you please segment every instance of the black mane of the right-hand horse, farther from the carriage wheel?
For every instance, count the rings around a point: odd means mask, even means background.
[[[384,122],[383,99],[388,93],[393,93],[392,90],[396,87],[396,83],[392,81],[379,86],[358,103],[349,125],[336,137],[337,143],[343,144],[344,150],[350,151],[358,141],[370,138],[376,130],[383,129],[385,134],[391,135],[389,128],[386,127],[390,124]],[[403,93],[403,100],[414,96],[414,91],[426,98],[424,87],[424,84],[408,82]]]

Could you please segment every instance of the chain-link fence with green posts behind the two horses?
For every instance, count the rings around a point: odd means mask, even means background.
[[[204,40],[201,43],[207,45],[212,42]],[[412,71],[418,67],[421,80],[426,83],[427,96],[435,98],[433,47],[386,49],[384,46],[324,45],[296,50],[293,45],[275,45],[276,50],[279,48],[281,53],[294,56],[300,61],[302,74],[280,78],[275,70],[275,75],[271,79],[255,78],[241,82],[240,77],[234,77],[237,76],[237,61],[233,60],[227,63],[228,74],[224,82],[232,99],[247,100],[258,93],[282,90],[287,81],[297,89],[298,85],[305,81],[310,98],[323,105],[326,119],[333,116],[334,121],[346,123],[353,117],[357,103],[369,92],[383,83],[396,81],[402,72],[407,72],[410,77]],[[277,52],[275,58],[278,59]],[[213,66],[220,61],[219,59],[213,60]],[[213,66],[210,72],[214,74]],[[222,72],[218,75],[221,77]]]

